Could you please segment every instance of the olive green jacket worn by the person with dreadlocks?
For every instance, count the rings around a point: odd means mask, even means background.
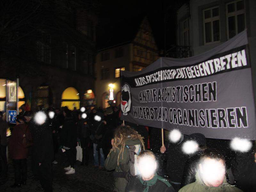
[[[141,142],[139,139],[132,139],[132,140],[125,141],[126,146],[140,145],[140,144],[141,144]],[[108,158],[105,161],[105,168],[109,171],[115,169],[115,172],[127,173],[129,171],[128,162],[130,160],[129,149],[127,147],[124,148],[123,158],[122,158],[122,153],[121,153],[119,156],[119,165],[117,165],[117,158],[118,158],[118,154],[120,152],[121,146],[118,146],[118,148],[116,148],[116,152],[111,151],[111,153],[108,155]],[[125,178],[115,177],[114,191],[124,192],[127,182],[128,181]]]

